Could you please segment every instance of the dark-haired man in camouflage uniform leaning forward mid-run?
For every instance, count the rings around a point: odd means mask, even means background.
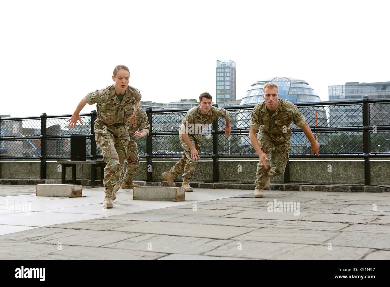
[[[209,93],[199,96],[199,106],[190,109],[184,117],[179,128],[179,139],[184,154],[170,171],[163,173],[163,178],[168,185],[175,186],[173,179],[183,172],[183,184],[185,191],[193,191],[190,187],[190,180],[198,164],[202,131],[206,126],[213,123],[216,118],[224,118],[226,126],[225,135],[231,135],[229,112],[223,108],[216,108],[211,105],[212,97]]]

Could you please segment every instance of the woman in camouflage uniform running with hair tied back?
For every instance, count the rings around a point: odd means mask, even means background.
[[[101,90],[90,92],[81,100],[70,121],[69,127],[74,128],[80,121],[80,111],[88,103],[97,103],[97,119],[94,122],[96,145],[103,153],[106,162],[103,184],[105,198],[103,208],[113,208],[113,200],[119,189],[121,171],[126,159],[129,143],[128,121],[135,121],[135,106],[141,100],[138,89],[129,86],[130,72],[124,65],[118,65],[113,71],[114,84]]]

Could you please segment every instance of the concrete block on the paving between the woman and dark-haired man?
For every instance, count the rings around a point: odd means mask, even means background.
[[[133,200],[182,201],[185,200],[184,187],[134,187]]]

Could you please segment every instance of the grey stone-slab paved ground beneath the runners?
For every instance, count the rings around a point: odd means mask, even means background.
[[[390,259],[389,193],[248,192],[195,189],[165,202],[133,201],[126,189],[104,210],[101,187],[53,198],[0,185],[0,258]]]

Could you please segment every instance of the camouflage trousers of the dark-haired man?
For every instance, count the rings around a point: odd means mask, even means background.
[[[201,144],[201,138],[197,135],[188,135],[190,137],[190,141],[193,144],[193,146],[198,151],[198,154],[200,153],[200,144]],[[174,175],[181,175],[183,173],[183,180],[190,181],[193,178],[196,166],[199,162],[198,160],[191,159],[191,150],[190,147],[185,143],[183,137],[179,135],[181,146],[183,147],[184,154],[175,164],[175,166],[172,166],[170,169],[170,172]]]

